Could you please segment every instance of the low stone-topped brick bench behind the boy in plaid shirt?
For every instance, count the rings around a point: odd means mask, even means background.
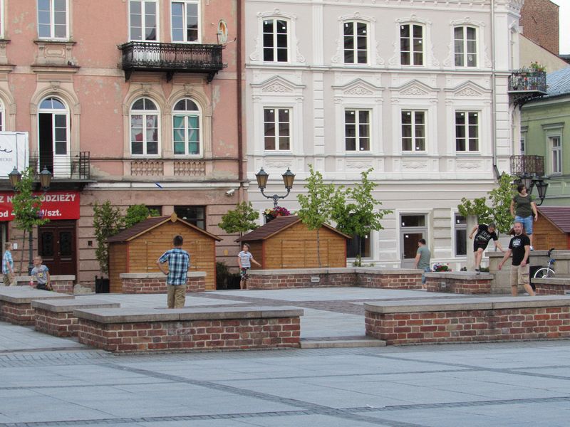
[[[166,275],[163,273],[122,273],[119,275],[123,283],[123,293],[166,293]],[[186,292],[204,292],[206,290],[206,273],[189,271],[186,281]]]

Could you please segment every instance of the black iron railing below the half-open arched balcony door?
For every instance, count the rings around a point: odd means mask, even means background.
[[[53,179],[86,180],[91,178],[90,152],[30,153],[30,167],[36,178],[44,167],[53,174]]]

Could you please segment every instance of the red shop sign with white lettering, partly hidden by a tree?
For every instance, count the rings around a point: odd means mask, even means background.
[[[33,193],[41,200],[40,215],[42,218],[79,219],[79,191],[48,191]],[[0,191],[0,221],[12,221],[14,209],[12,199],[14,192]]]

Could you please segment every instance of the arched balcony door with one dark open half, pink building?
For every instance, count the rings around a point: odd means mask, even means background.
[[[38,161],[40,169],[47,167],[54,176],[71,174],[69,155],[69,112],[57,97],[40,102],[38,111]]]

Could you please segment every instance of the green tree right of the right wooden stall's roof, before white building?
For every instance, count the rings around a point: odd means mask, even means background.
[[[377,206],[382,206],[382,202],[374,199],[372,191],[378,184],[368,179],[368,174],[373,170],[370,168],[361,172],[361,181],[345,191],[346,199],[352,201],[336,204],[333,210],[333,220],[336,221],[338,231],[348,236],[356,235],[358,256],[355,265],[358,267],[362,265],[361,238],[373,230],[382,230],[380,220],[392,213],[389,209],[377,209]]]

